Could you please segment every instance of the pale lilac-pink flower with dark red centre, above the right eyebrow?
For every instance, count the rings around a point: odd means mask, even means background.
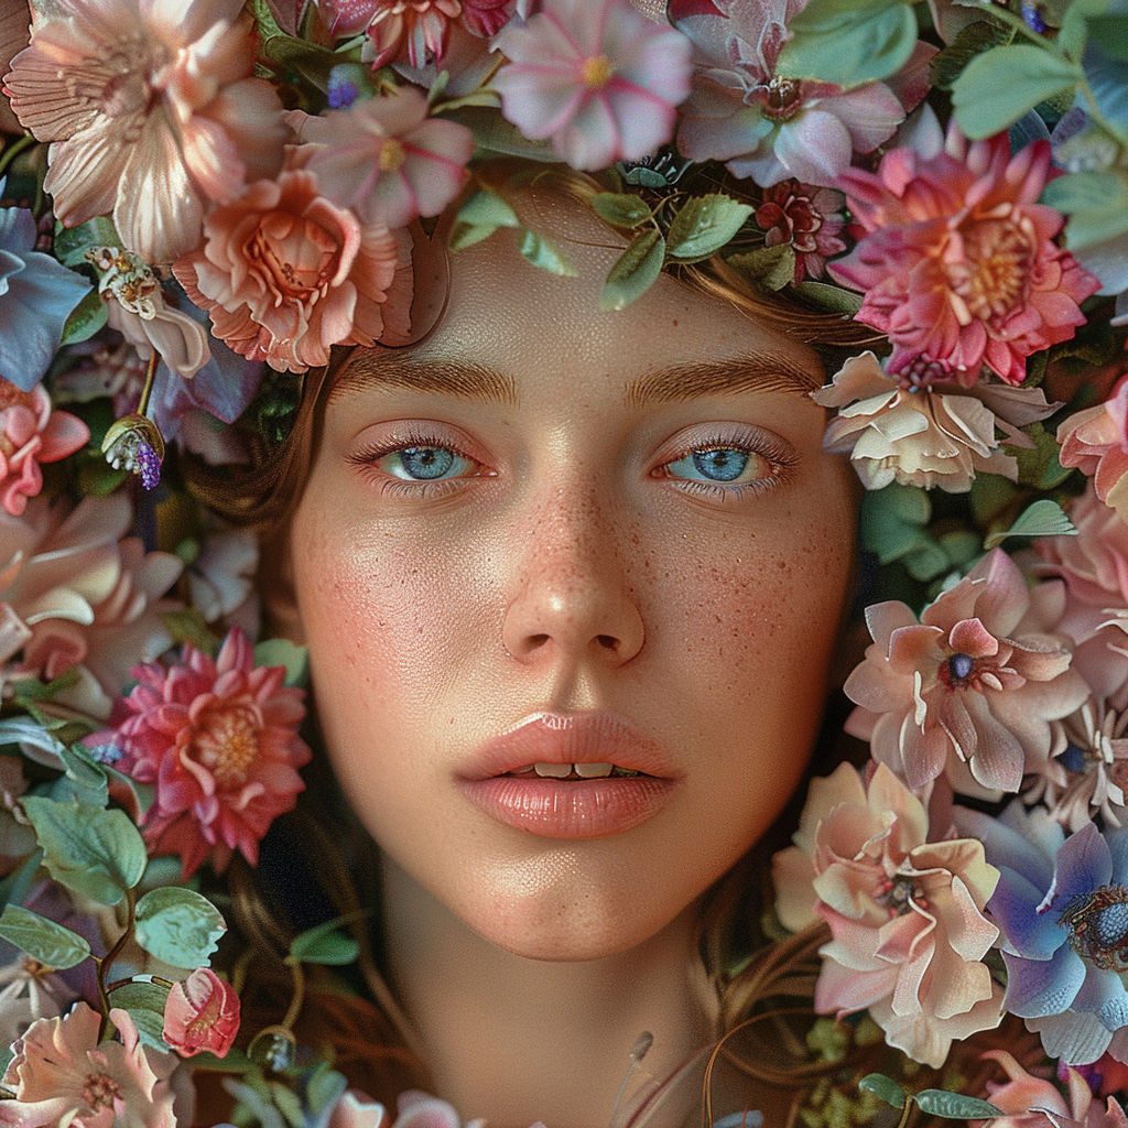
[[[928,91],[934,49],[918,44],[901,76],[844,90],[777,73],[787,24],[807,0],[671,0],[669,16],[694,42],[698,67],[682,107],[678,148],[723,160],[733,176],[770,186],[795,177],[831,185],[854,152],[888,141]],[[897,89],[895,89],[895,85]]]

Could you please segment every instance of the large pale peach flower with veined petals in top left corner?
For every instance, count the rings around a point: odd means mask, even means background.
[[[241,8],[59,0],[36,21],[5,89],[20,122],[53,142],[44,186],[59,219],[113,213],[127,249],[168,263],[200,241],[209,201],[277,173],[282,106],[250,77]]]

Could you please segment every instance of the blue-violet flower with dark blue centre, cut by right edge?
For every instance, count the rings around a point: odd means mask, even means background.
[[[1070,1065],[1128,1058],[1128,830],[1090,822],[1066,838],[1016,803],[998,820],[961,811],[959,827],[1002,874],[987,911],[1004,937],[1006,1010]]]

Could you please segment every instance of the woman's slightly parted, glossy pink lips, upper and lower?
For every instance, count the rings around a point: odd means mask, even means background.
[[[530,764],[615,764],[638,776],[510,776]],[[614,713],[536,713],[487,741],[459,778],[464,794],[505,826],[543,838],[602,838],[655,816],[679,790],[661,747]]]

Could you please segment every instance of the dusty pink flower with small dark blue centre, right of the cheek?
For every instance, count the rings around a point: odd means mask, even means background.
[[[915,790],[946,769],[962,793],[1016,792],[1049,755],[1050,722],[1089,696],[1068,641],[1045,632],[1063,599],[1058,584],[1028,591],[995,549],[919,622],[901,602],[867,607],[873,644],[844,687],[858,705],[847,731]]]

